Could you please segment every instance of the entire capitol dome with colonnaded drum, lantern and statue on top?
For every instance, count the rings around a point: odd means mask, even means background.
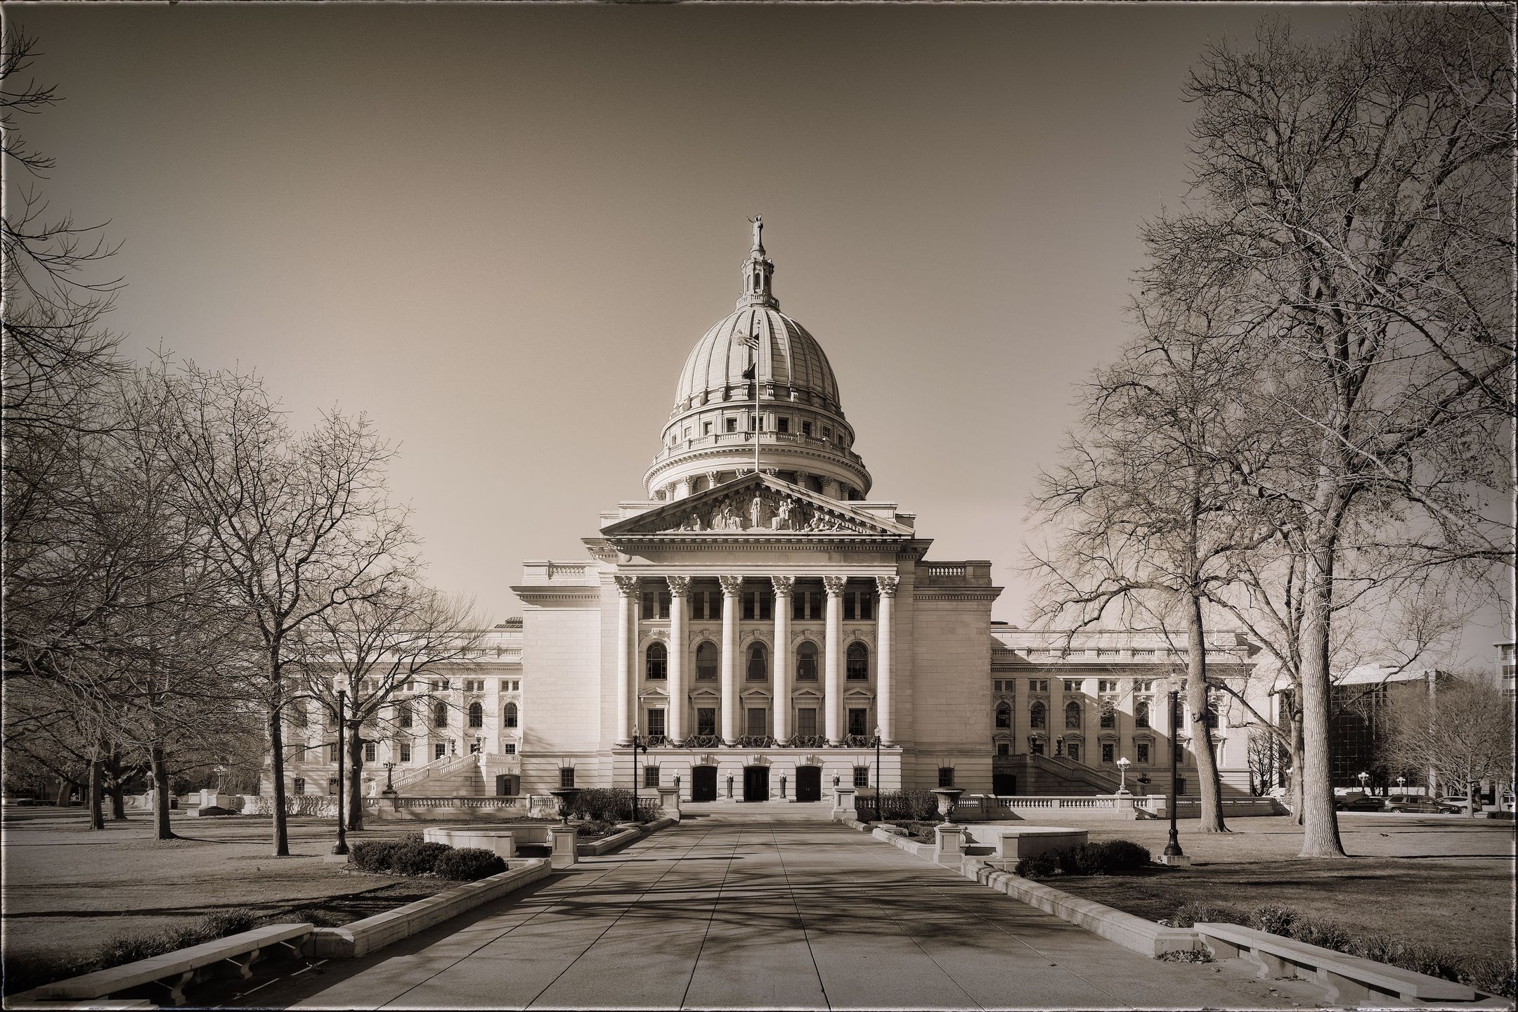
[[[750,222],[742,294],[685,360],[662,446],[644,475],[648,498],[683,499],[753,473],[757,440],[762,470],[835,499],[864,499],[871,478],[853,452],[838,379],[817,338],[780,313],[764,222]]]

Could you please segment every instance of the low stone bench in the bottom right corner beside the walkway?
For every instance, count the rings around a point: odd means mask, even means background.
[[[1328,992],[1331,1004],[1357,1004],[1397,997],[1404,1001],[1475,1001],[1472,988],[1428,974],[1346,956],[1239,924],[1196,924],[1213,956],[1240,957],[1258,966],[1260,977],[1301,977]]]

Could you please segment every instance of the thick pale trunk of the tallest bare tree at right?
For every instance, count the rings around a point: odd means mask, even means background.
[[[1345,857],[1333,807],[1328,712],[1328,624],[1333,607],[1333,546],[1316,545],[1302,581],[1302,850],[1299,857]]]

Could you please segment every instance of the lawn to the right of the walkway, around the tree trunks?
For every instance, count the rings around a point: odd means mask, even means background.
[[[1343,813],[1345,850],[1357,854],[1350,859],[1295,857],[1301,833],[1284,816],[1230,825],[1233,833],[1202,834],[1179,822],[1192,868],[1058,877],[1050,885],[1151,921],[1169,918],[1186,901],[1239,912],[1272,904],[1366,933],[1512,960],[1512,822]],[[1102,821],[1090,828],[1091,841],[1131,839],[1158,856],[1169,825]]]

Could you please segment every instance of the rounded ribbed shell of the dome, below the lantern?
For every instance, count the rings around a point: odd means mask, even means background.
[[[720,320],[691,349],[676,387],[676,411],[704,399],[721,399],[721,391],[748,387],[744,370],[751,352],[744,344],[748,334],[759,337],[759,382],[774,384],[779,399],[789,390],[805,393],[803,401],[838,410],[838,381],[821,346],[800,323],[779,310],[744,306]]]

